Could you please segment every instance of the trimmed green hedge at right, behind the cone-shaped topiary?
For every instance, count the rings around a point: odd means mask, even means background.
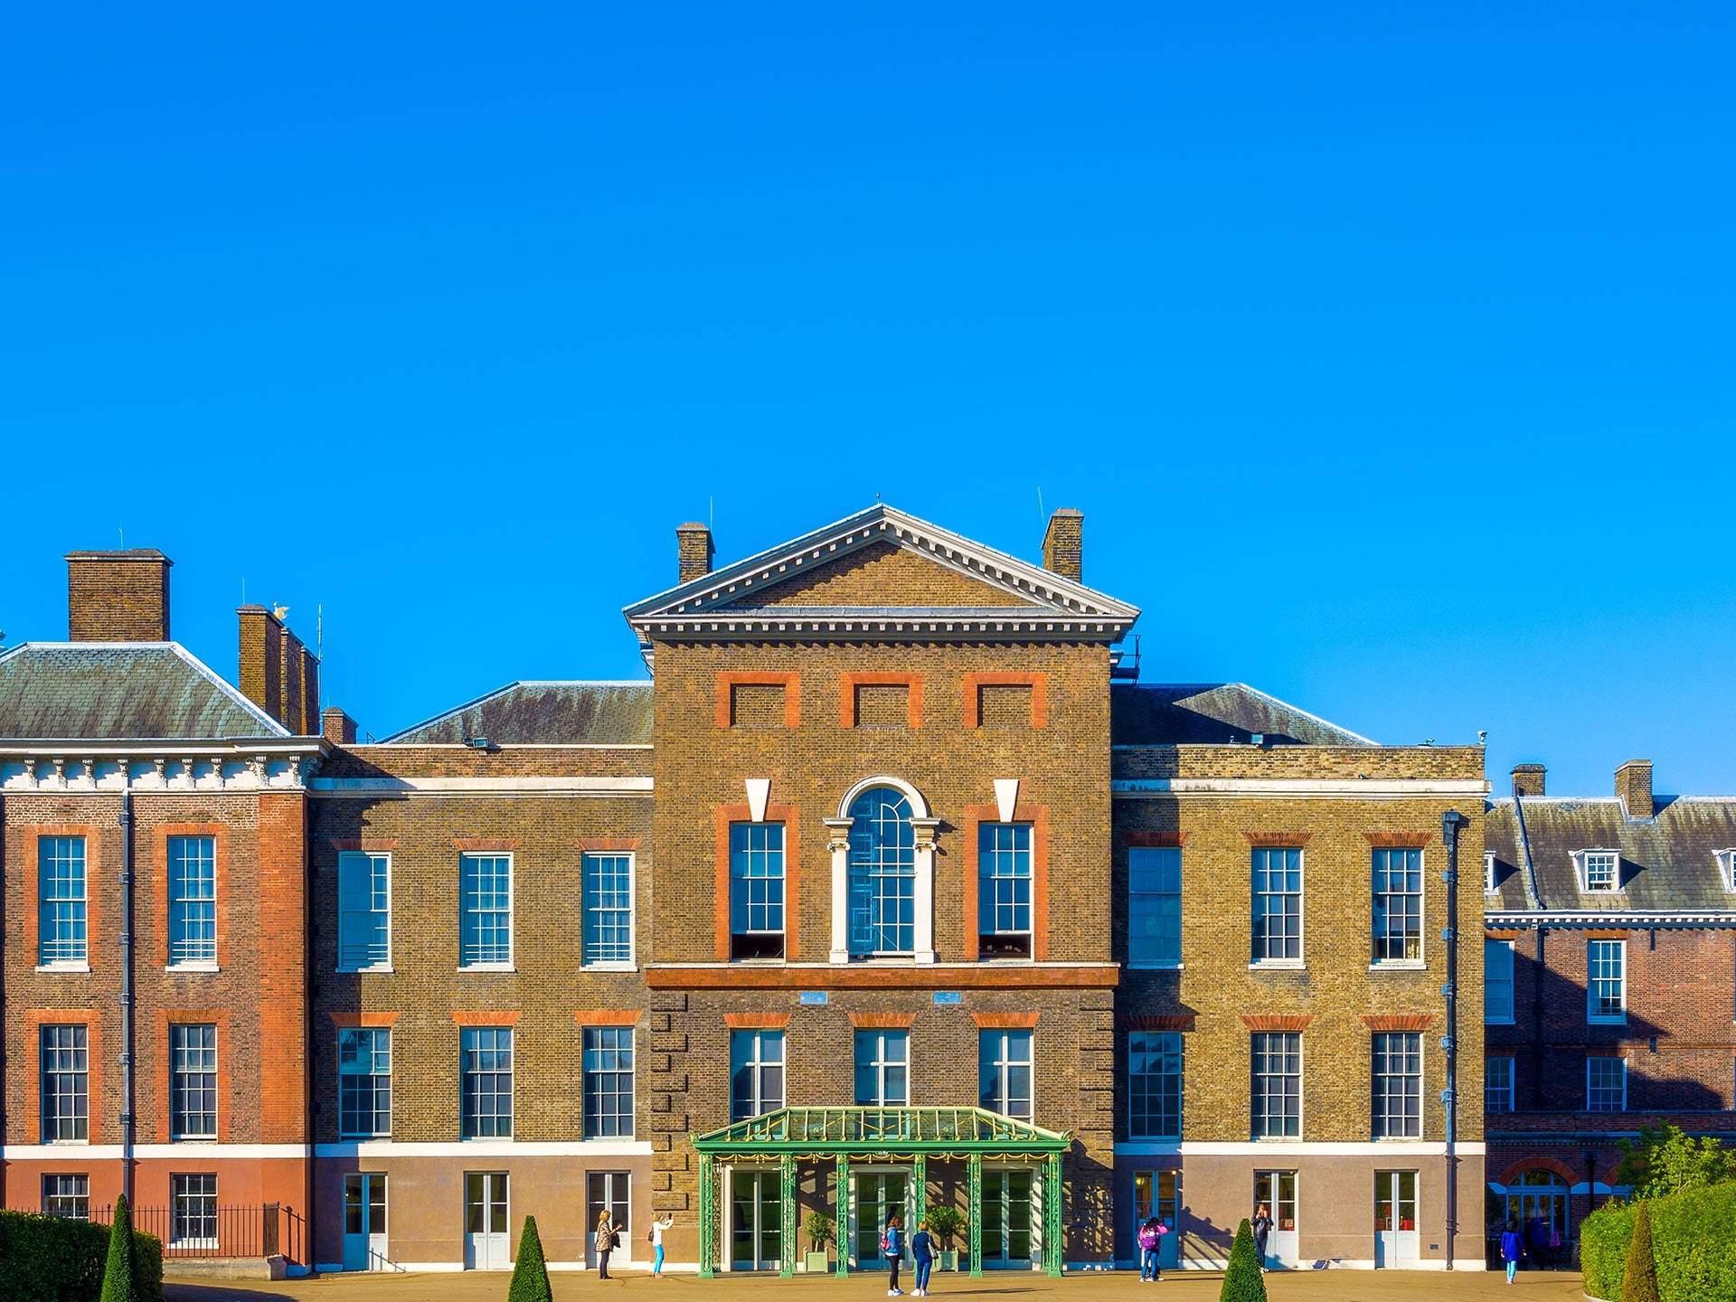
[[[1580,1226],[1580,1269],[1592,1297],[1621,1297],[1635,1207],[1608,1203]],[[1658,1297],[1663,1302],[1736,1297],[1736,1236],[1731,1234],[1736,1184],[1649,1198],[1647,1208]]]

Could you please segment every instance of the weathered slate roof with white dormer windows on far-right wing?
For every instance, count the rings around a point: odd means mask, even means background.
[[[1521,838],[1521,821],[1524,837]],[[1495,854],[1496,910],[1581,913],[1724,911],[1736,892],[1724,889],[1717,851],[1736,847],[1736,797],[1661,797],[1651,818],[1627,818],[1613,797],[1524,797],[1491,800],[1484,849]],[[1535,866],[1529,891],[1526,849]],[[1620,891],[1580,891],[1575,851],[1621,851]]]

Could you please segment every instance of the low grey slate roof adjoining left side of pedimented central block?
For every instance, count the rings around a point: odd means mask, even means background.
[[[488,738],[502,746],[634,746],[651,741],[649,682],[509,682],[385,738],[441,745]]]

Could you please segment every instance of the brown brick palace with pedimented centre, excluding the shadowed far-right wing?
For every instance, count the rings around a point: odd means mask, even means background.
[[[842,1272],[939,1203],[967,1269],[1146,1213],[1212,1266],[1266,1201],[1276,1264],[1483,1267],[1483,750],[1141,682],[1078,512],[1042,564],[682,526],[648,679],[378,743],[276,613],[231,687],[167,559],[68,564],[71,639],[0,654],[9,1207],[128,1184],[252,1255],[222,1208],[292,1205],[319,1269],[500,1267],[526,1213],[582,1267],[604,1210],[642,1264],[667,1213],[783,1272],[819,1210]]]

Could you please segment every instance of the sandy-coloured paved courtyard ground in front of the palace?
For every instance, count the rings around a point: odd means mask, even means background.
[[[333,1274],[321,1279],[283,1283],[175,1283],[163,1285],[168,1302],[505,1302],[507,1274]],[[693,1276],[668,1276],[653,1281],[630,1272],[620,1281],[599,1281],[589,1274],[552,1274],[556,1302],[583,1299],[620,1299],[621,1302],[759,1302],[766,1293],[773,1302],[837,1302],[838,1299],[882,1299],[885,1276],[852,1276],[847,1281],[767,1279],[736,1276],[700,1281]],[[1304,1271],[1269,1274],[1272,1299],[1319,1299],[1326,1302],[1375,1302],[1377,1299],[1524,1299],[1528,1302],[1583,1302],[1580,1276],[1571,1272],[1531,1271],[1519,1274],[1519,1285],[1507,1288],[1500,1271],[1446,1274],[1436,1271]],[[1215,1302],[1222,1276],[1170,1276],[1161,1285],[1141,1285],[1132,1271],[1082,1272],[1064,1279],[1002,1274],[988,1279],[936,1278],[934,1297],[977,1299],[979,1302]],[[1522,1292],[1519,1292],[1522,1288]],[[906,1293],[908,1297],[908,1293]]]

